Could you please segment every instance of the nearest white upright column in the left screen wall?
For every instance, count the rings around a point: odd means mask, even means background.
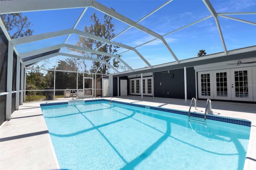
[[[6,119],[11,120],[12,114],[12,62],[13,62],[13,45],[8,43],[8,63],[7,63],[7,91],[6,95]]]

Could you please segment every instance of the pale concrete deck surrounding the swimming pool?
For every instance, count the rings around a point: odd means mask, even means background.
[[[143,97],[141,99],[140,96],[106,97],[104,99],[182,111],[188,111],[190,106],[190,100],[185,104],[184,99],[158,97]],[[12,120],[4,122],[0,127],[1,170],[60,169],[40,103],[68,100],[70,98],[24,103],[20,105],[18,111],[14,111]],[[204,113],[205,107],[206,101],[198,100],[197,110],[194,109],[193,103],[191,111]],[[256,104],[212,101],[212,112],[208,109],[207,114],[252,122],[244,170],[254,169],[256,167]]]

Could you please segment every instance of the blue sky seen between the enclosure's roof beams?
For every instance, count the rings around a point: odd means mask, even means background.
[[[166,0],[97,0],[97,2],[109,8],[112,7],[116,12],[137,22],[148,13],[164,4]],[[210,2],[216,12],[256,12],[255,0],[210,0]],[[36,35],[72,28],[83,10],[83,8],[77,8],[26,12],[23,13],[23,15],[28,16],[30,22],[33,24],[31,28],[34,30],[34,35]],[[102,14],[102,12],[93,8],[88,8],[76,29],[83,30],[84,26],[90,26],[90,16],[94,12],[96,12],[96,16],[103,22],[102,18],[104,14]],[[207,16],[210,16],[210,12],[201,0],[174,0],[141,21],[139,24],[164,36],[165,34]],[[256,23],[256,14],[228,16]],[[227,50],[256,45],[255,24],[247,24],[223,17],[218,17],[218,20],[220,22]],[[115,34],[118,34],[129,27],[127,24],[114,18],[112,23],[114,24]],[[19,45],[16,48],[19,53],[23,53],[63,43],[66,40],[66,37],[67,36],[62,36],[40,42]],[[168,36],[164,36],[164,38],[179,60],[196,57],[197,52],[200,49],[205,49],[207,54],[224,51],[213,17]],[[141,32],[136,28],[130,28],[124,34],[115,38],[114,41],[136,47],[153,39],[154,37],[149,34]],[[76,42],[78,42],[78,36],[70,36],[68,43],[75,45]],[[151,65],[175,61],[160,40],[153,41],[136,49]],[[63,49],[63,51],[66,52],[68,50]],[[126,51],[126,49],[118,49],[118,53],[122,53],[123,51]],[[63,56],[58,57],[58,59],[65,58],[66,57]],[[122,59],[133,69],[147,66],[134,51],[122,53]],[[56,60],[56,57],[49,60],[51,62],[49,68],[52,68],[52,66],[55,65]],[[86,61],[87,69],[90,68],[90,63],[91,61]]]

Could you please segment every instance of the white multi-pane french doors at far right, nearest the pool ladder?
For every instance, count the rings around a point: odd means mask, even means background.
[[[248,67],[198,72],[198,97],[253,101],[252,71],[254,68]]]

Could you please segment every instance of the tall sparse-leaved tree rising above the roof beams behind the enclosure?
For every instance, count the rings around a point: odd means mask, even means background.
[[[114,10],[114,9],[112,9],[112,10]],[[90,20],[90,22],[92,22],[91,26],[89,28],[87,26],[84,26],[84,31],[89,34],[93,34],[95,36],[102,37],[107,40],[111,40],[112,38],[115,37],[114,24],[112,24],[111,21],[112,21],[112,17],[105,14],[104,15],[104,23],[102,24],[100,22],[100,20],[98,19],[98,17],[96,16],[96,14],[94,13],[91,16],[91,20]],[[80,47],[85,47],[88,49],[94,49],[94,50],[98,49],[98,51],[102,51],[102,52],[110,53],[110,54],[116,53],[117,49],[119,48],[112,44],[107,44],[107,43],[105,44],[103,42],[99,42],[97,40],[92,40],[90,38],[86,38],[83,36],[79,36],[79,42],[77,42],[76,45],[78,45]],[[84,56],[89,55],[89,53],[86,51],[80,51],[80,50],[73,50],[73,51],[82,53],[82,55],[84,55]],[[120,61],[118,61],[116,58],[111,58],[106,55],[90,53],[90,57],[93,57],[94,55],[96,55],[97,59],[105,60],[108,63],[111,62],[114,67],[116,67],[116,68],[119,67]],[[93,63],[93,65],[90,68],[90,72],[96,73],[96,71],[99,69],[98,73],[103,73],[103,74],[109,73],[107,70],[109,67],[105,63],[101,64],[98,61],[93,61],[92,63]]]

